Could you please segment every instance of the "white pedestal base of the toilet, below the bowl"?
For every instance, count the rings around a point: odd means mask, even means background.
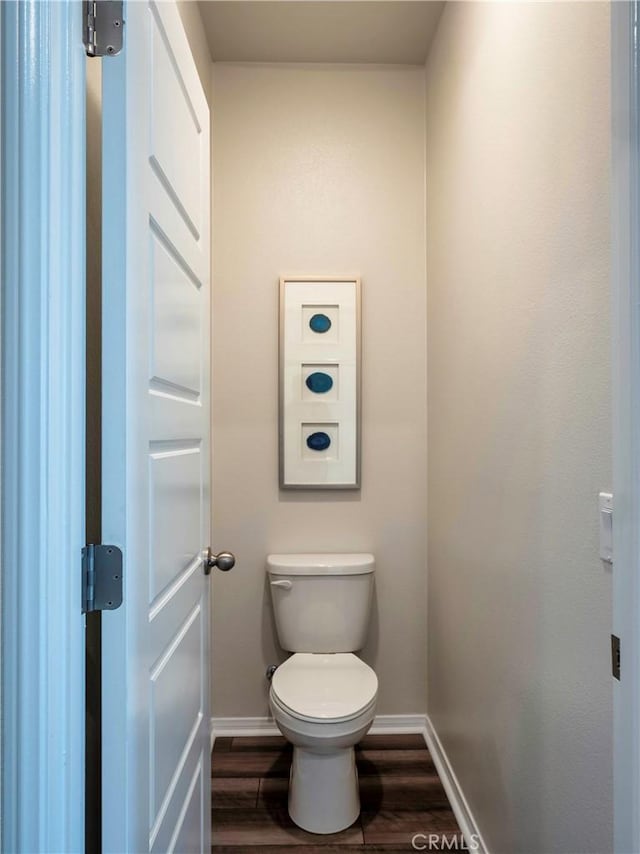
[[[310,833],[338,833],[353,824],[360,815],[353,747],[326,753],[293,748],[289,815]]]

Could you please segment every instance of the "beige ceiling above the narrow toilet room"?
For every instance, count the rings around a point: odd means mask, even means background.
[[[422,65],[436,0],[200,0],[214,62]]]

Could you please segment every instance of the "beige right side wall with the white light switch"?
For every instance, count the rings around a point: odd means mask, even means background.
[[[494,854],[611,851],[609,9],[427,65],[429,710]]]

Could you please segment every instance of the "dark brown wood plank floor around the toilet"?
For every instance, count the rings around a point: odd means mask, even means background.
[[[265,854],[391,854],[415,851],[414,834],[423,834],[417,842],[427,851],[463,847],[420,735],[364,738],[356,748],[362,812],[347,830],[326,836],[307,833],[289,818],[291,747],[283,738],[218,738],[212,758],[215,854],[263,848]]]

